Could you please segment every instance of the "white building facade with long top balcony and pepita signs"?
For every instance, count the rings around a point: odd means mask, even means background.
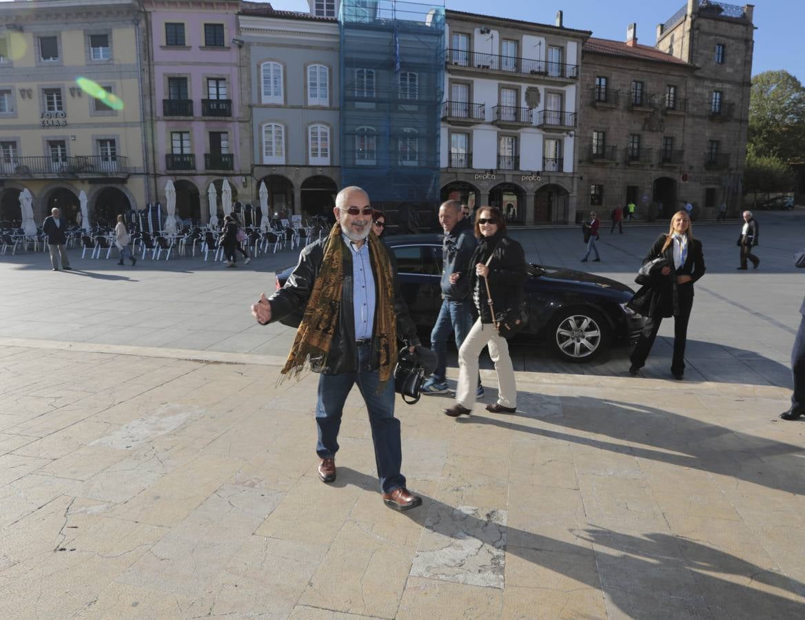
[[[576,209],[581,47],[590,32],[446,11],[441,199],[512,224]]]

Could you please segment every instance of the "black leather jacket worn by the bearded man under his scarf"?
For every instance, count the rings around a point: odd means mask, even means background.
[[[308,304],[308,299],[313,290],[313,284],[321,268],[324,259],[324,249],[329,238],[314,241],[305,246],[299,253],[299,264],[288,277],[282,289],[271,295],[271,320],[277,322],[295,311],[303,310]],[[340,240],[341,243],[344,243]],[[368,241],[371,243],[371,240]],[[384,244],[380,244],[382,252],[388,250]],[[417,345],[419,337],[416,335],[416,326],[408,315],[408,306],[399,295],[399,285],[397,282],[397,265],[394,261],[394,254],[389,253],[392,270],[394,272],[394,314],[397,317],[397,337],[407,341],[408,345]],[[312,370],[321,372],[324,375],[341,375],[345,372],[355,372],[357,370],[357,354],[355,350],[355,318],[353,314],[353,261],[352,253],[344,253],[344,283],[341,289],[341,308],[339,310],[338,326],[336,333],[332,336],[330,351],[326,359],[312,360]],[[379,289],[378,274],[376,265],[372,265],[374,273],[374,283]],[[378,306],[375,306],[377,312]],[[377,314],[375,314],[377,320]],[[379,367],[378,342],[372,343],[372,368]]]

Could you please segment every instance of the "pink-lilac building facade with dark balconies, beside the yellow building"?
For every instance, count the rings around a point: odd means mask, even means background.
[[[151,191],[163,205],[171,179],[176,215],[194,223],[221,215],[227,179],[232,200],[248,203],[251,179],[248,73],[236,0],[144,0],[151,71],[143,90],[151,103],[147,148]],[[209,203],[209,187],[216,204]]]

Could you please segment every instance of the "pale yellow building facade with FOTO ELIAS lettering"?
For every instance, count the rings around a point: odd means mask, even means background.
[[[36,220],[60,207],[73,224],[79,196],[91,222],[149,198],[142,23],[131,0],[0,3],[0,220]]]

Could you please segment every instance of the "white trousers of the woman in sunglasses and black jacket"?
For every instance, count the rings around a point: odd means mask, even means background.
[[[456,403],[473,409],[477,391],[478,357],[489,347],[489,357],[497,372],[497,402],[504,407],[517,407],[517,384],[511,365],[509,343],[497,334],[492,323],[481,323],[478,318],[458,351],[458,385]]]

